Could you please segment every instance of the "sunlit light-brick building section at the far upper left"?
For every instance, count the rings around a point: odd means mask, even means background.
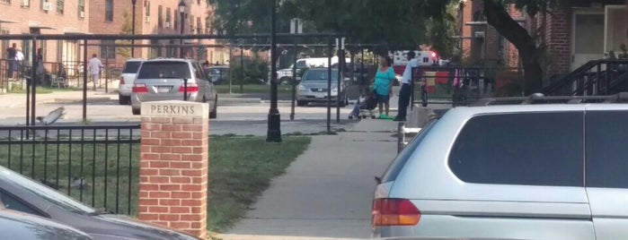
[[[0,0],[0,34],[76,34],[87,33],[89,1]],[[0,58],[13,43],[31,61],[30,40],[3,40]],[[75,62],[79,51],[76,40],[39,41],[46,62]]]

